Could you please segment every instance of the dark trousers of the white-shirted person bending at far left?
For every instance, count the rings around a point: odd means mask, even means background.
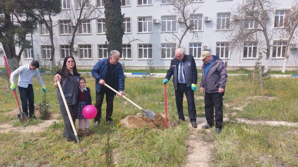
[[[18,86],[21,103],[22,103],[22,110],[28,116],[28,106],[29,106],[29,114],[34,114],[34,92],[32,84],[28,84],[27,88],[23,88]]]

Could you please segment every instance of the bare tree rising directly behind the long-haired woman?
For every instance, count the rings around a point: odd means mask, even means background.
[[[72,1],[73,2],[73,1]],[[82,23],[90,22],[91,20],[99,18],[103,13],[91,0],[74,0],[69,10],[63,12],[64,18],[72,21],[72,39],[70,40],[70,54],[73,56],[74,39],[80,31],[88,31],[88,25]],[[89,33],[89,32],[87,32]],[[91,33],[91,31],[90,31]]]

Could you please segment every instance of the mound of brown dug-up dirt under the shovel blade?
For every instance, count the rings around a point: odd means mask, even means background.
[[[145,115],[130,115],[120,120],[120,122],[123,123],[128,128],[149,127],[149,128],[156,128],[161,130],[164,129],[164,118],[159,113],[155,114],[155,118],[153,120],[146,117]]]

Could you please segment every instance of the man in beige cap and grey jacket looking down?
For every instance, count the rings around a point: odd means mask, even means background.
[[[205,89],[205,115],[207,124],[204,129],[214,126],[215,109],[215,127],[216,133],[220,134],[223,127],[223,96],[226,83],[226,69],[224,62],[218,56],[211,55],[209,51],[204,51],[200,57],[203,60],[202,81],[200,84],[201,93]]]

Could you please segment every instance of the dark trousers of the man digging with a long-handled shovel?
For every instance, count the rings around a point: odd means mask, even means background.
[[[96,92],[95,107],[97,109],[97,114],[94,118],[94,121],[99,121],[99,119],[101,118],[101,107],[103,103],[104,94],[106,95],[107,103],[106,120],[112,120],[115,93],[112,91],[102,89],[100,90],[100,92]]]

